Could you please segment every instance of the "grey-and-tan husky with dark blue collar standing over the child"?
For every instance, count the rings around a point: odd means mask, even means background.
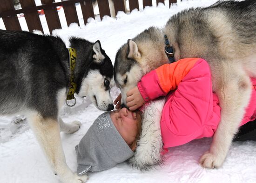
[[[114,65],[122,104],[141,76],[168,63],[164,35],[175,60],[202,57],[209,63],[222,118],[200,164],[220,167],[249,102],[249,77],[256,77],[256,1],[218,1],[206,8],[184,10],[173,15],[163,29],[150,27],[128,40],[118,50]]]

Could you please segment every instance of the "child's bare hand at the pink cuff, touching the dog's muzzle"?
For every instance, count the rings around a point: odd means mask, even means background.
[[[145,103],[138,87],[135,87],[135,88],[129,90],[126,93],[126,95],[127,95],[126,105],[127,105],[127,107],[129,107],[129,110],[131,110],[131,111],[136,110],[137,108],[141,107]]]

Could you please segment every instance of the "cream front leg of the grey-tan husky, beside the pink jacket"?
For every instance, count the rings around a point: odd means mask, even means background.
[[[232,139],[243,119],[245,107],[249,103],[251,84],[242,67],[235,71],[223,66],[223,72],[216,77],[216,94],[220,100],[221,121],[216,129],[209,151],[200,158],[200,164],[206,168],[220,167],[229,151]]]

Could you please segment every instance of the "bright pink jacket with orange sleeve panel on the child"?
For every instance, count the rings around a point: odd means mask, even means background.
[[[256,78],[251,82],[251,99],[241,125],[256,118]],[[145,101],[168,95],[161,119],[164,148],[213,136],[221,107],[205,60],[185,58],[164,64],[143,76],[137,86]]]

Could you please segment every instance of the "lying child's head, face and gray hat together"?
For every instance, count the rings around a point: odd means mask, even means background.
[[[131,158],[140,122],[140,116],[126,108],[101,114],[75,147],[78,175],[107,170]]]

